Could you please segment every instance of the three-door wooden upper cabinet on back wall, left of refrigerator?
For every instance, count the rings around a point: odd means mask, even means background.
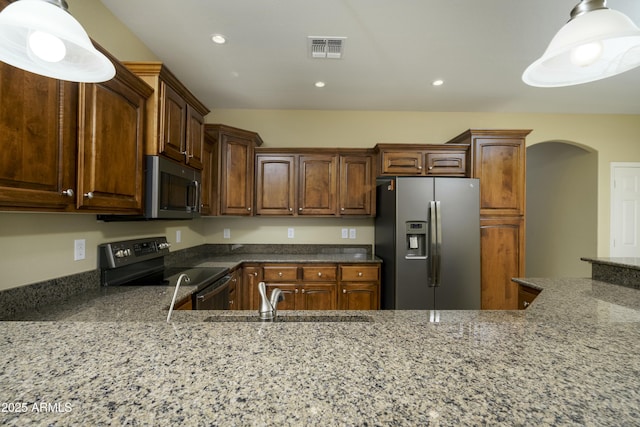
[[[370,150],[257,150],[256,215],[373,215],[371,163]]]

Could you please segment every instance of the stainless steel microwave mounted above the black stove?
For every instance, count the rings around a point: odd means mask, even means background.
[[[191,219],[200,216],[201,173],[160,156],[145,156],[144,216]]]

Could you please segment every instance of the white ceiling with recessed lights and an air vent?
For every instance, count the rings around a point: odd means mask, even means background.
[[[101,1],[211,109],[640,114],[640,67],[522,82],[578,0]],[[607,6],[640,25],[640,0]],[[307,36],[347,37],[343,59],[312,59]]]

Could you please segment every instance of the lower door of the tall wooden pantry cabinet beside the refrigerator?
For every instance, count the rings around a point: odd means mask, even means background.
[[[524,220],[521,217],[480,219],[482,309],[518,308],[518,285],[524,275]]]

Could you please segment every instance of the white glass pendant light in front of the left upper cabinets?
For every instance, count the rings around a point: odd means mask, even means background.
[[[115,67],[68,12],[65,0],[18,0],[0,12],[0,61],[74,82],[110,80]]]

